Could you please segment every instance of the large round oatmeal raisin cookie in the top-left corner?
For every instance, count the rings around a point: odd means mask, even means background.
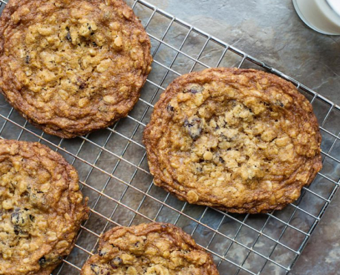
[[[150,40],[123,0],[10,0],[0,19],[0,88],[59,137],[127,115],[150,72]]]

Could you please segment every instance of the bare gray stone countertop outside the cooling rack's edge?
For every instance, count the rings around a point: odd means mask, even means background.
[[[148,1],[340,104],[340,36],[310,30],[291,0]],[[338,193],[292,275],[339,274],[339,207]]]

